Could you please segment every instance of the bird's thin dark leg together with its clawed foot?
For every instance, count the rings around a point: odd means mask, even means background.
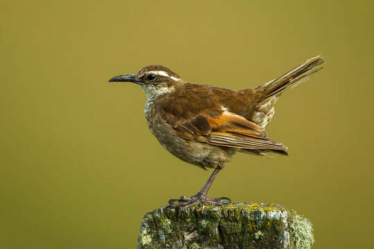
[[[220,172],[221,169],[215,168],[211,176],[208,178],[208,181],[204,184],[202,189],[197,192],[197,194],[187,197],[187,196],[181,196],[180,199],[171,199],[169,201],[169,207],[176,208],[176,207],[188,207],[191,205],[195,205],[198,203],[207,203],[207,204],[213,204],[213,205],[222,205],[230,203],[231,200],[227,197],[221,197],[221,198],[211,198],[206,196],[208,193],[209,188],[211,187],[215,176]]]

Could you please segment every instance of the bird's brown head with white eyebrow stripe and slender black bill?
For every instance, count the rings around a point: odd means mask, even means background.
[[[145,91],[149,100],[161,98],[166,93],[171,93],[175,87],[184,81],[169,68],[160,65],[145,66],[136,74],[118,75],[109,82],[134,82]]]

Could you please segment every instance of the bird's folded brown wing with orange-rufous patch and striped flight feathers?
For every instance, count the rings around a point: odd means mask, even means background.
[[[161,111],[163,119],[185,139],[238,149],[287,150],[257,124],[222,107],[211,89],[198,89],[195,96],[184,91],[164,102]]]

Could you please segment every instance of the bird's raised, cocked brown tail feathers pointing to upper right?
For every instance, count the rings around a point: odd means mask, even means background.
[[[281,95],[284,91],[293,89],[295,86],[299,86],[303,82],[310,79],[310,75],[316,73],[323,68],[325,60],[321,55],[308,59],[303,64],[296,66],[289,72],[285,73],[281,77],[275,80],[271,80],[262,86],[263,100],[271,98],[274,95]]]

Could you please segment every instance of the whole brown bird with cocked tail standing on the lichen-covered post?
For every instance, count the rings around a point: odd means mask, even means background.
[[[159,143],[186,163],[213,169],[197,194],[170,199],[168,207],[223,205],[231,199],[212,198],[207,193],[233,154],[288,155],[288,148],[265,132],[274,116],[274,104],[282,93],[309,80],[324,63],[321,55],[312,57],[266,84],[238,91],[186,82],[161,65],[145,66],[136,74],[118,75],[109,82],[139,84],[147,96],[148,127]]]

